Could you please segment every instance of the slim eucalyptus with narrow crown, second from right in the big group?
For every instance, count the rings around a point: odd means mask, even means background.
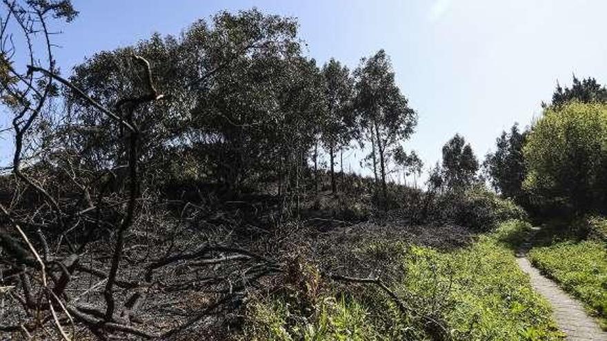
[[[321,124],[321,141],[329,154],[331,190],[335,193],[335,153],[359,134],[356,113],[352,107],[354,80],[350,76],[350,70],[335,59],[330,59],[323,66],[322,75],[326,114]]]

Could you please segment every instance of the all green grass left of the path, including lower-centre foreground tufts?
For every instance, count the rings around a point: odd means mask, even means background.
[[[453,340],[562,340],[548,303],[533,291],[508,246],[527,228],[506,223],[449,252],[369,242],[363,251],[395,254],[388,259],[405,269],[405,280],[390,287],[415,313],[401,316],[375,288],[333,287],[315,300],[311,313],[287,296],[249,304],[243,340],[432,340],[419,316],[440,321]]]

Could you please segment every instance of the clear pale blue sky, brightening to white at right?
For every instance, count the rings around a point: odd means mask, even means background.
[[[459,132],[483,157],[501,130],[528,125],[571,74],[607,83],[604,0],[73,0],[80,15],[63,28],[63,74],[99,50],[152,32],[178,34],[219,10],[257,7],[297,17],[307,53],[355,68],[384,48],[419,114],[407,146],[431,166]],[[5,150],[10,139],[0,141]],[[6,159],[2,157],[2,159]],[[352,160],[352,168],[357,161]]]

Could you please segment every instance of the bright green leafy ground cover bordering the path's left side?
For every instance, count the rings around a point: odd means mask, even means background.
[[[441,307],[454,340],[561,340],[549,304],[496,238],[451,253],[413,247],[407,289],[426,298],[421,309]]]

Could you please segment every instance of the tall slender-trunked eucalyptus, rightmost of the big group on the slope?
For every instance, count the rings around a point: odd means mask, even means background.
[[[392,150],[413,134],[417,113],[409,107],[408,100],[396,85],[392,63],[384,50],[362,59],[355,70],[355,79],[355,105],[361,115],[361,129],[372,143],[374,169],[377,169],[377,149],[385,198],[387,165]]]

